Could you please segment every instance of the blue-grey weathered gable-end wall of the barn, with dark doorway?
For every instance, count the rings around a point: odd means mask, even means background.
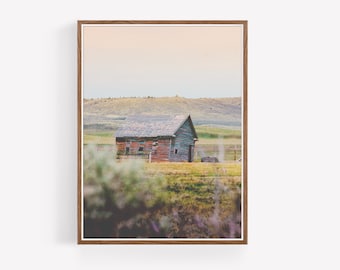
[[[176,137],[171,140],[170,161],[184,162],[193,161],[195,140],[192,126],[189,120],[177,130]],[[191,148],[190,148],[191,145]],[[191,153],[189,154],[189,150]],[[191,158],[189,160],[189,158]]]

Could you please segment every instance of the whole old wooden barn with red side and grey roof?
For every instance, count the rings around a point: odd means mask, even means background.
[[[131,116],[116,132],[121,158],[192,162],[198,137],[190,115]]]

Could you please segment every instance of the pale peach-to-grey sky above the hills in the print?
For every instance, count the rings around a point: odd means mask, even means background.
[[[240,97],[242,25],[85,25],[83,96]]]

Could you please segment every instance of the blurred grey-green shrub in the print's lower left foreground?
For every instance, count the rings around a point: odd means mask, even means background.
[[[84,151],[84,237],[165,235],[165,181],[146,176],[140,160],[119,162],[107,149]]]

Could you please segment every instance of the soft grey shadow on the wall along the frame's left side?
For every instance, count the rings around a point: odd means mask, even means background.
[[[51,84],[57,89],[55,119],[56,145],[55,199],[56,242],[75,244],[77,235],[77,23],[54,29],[48,35],[55,63]],[[53,50],[52,50],[53,49]]]

